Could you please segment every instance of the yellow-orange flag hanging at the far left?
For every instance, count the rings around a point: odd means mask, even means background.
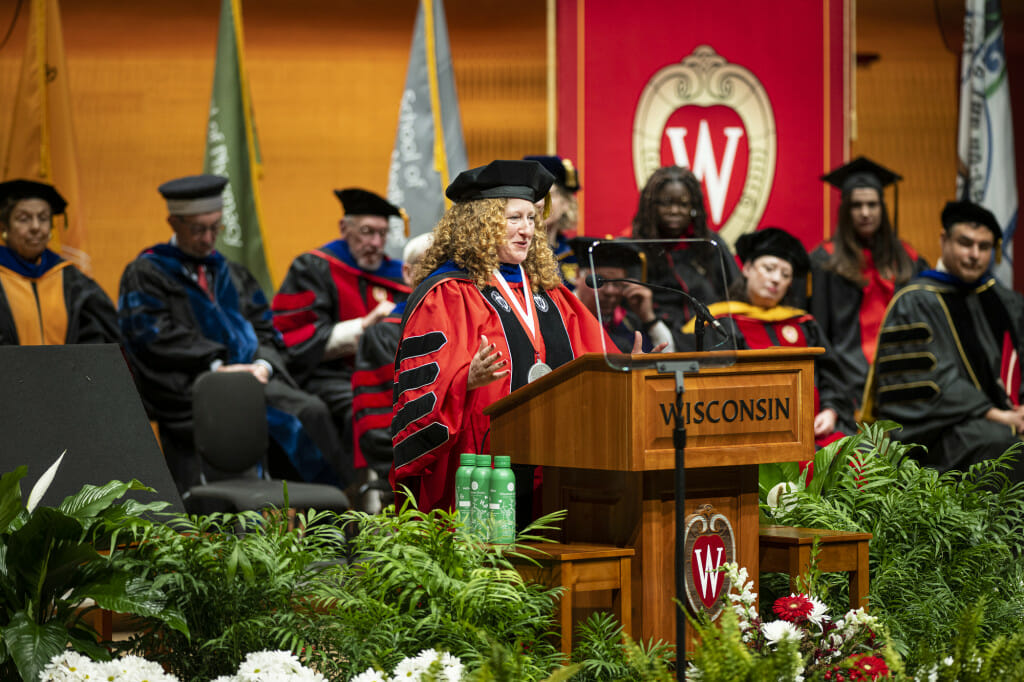
[[[57,188],[68,200],[68,215],[67,222],[55,220],[50,249],[89,272],[77,159],[60,9],[57,0],[31,0],[3,179],[38,180]]]

